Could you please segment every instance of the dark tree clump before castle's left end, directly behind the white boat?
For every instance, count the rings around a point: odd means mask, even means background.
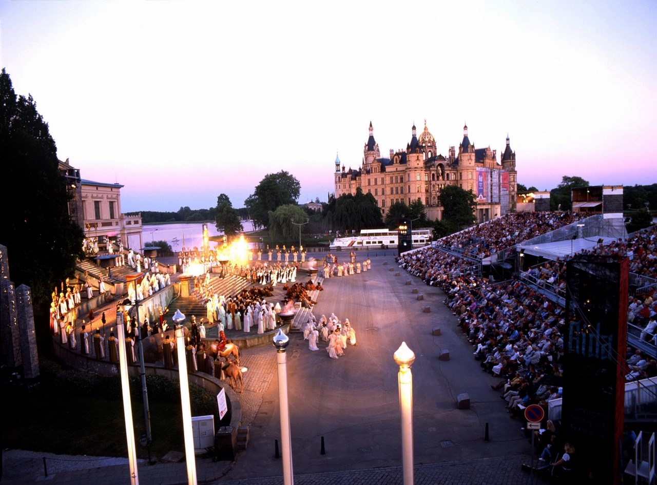
[[[331,197],[324,206],[323,227],[327,231],[361,231],[381,227],[382,224],[376,199],[372,194],[363,194],[360,187],[356,189],[356,195]]]

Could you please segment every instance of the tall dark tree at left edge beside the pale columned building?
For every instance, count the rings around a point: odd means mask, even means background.
[[[0,158],[4,166],[0,243],[7,246],[11,279],[28,285],[37,312],[53,288],[74,274],[82,257],[82,228],[68,215],[66,179],[57,147],[32,96],[16,97],[9,74],[0,74]],[[14,190],[8,189],[9,185]]]

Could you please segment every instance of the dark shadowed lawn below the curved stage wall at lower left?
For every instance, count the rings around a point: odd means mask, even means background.
[[[152,443],[151,459],[169,451],[185,451],[179,381],[147,376]],[[139,444],[145,434],[141,379],[130,379],[137,455],[148,459]],[[217,415],[215,396],[190,384],[192,415]],[[3,448],[68,455],[127,456],[121,381],[53,363],[41,367],[34,390],[5,388]]]

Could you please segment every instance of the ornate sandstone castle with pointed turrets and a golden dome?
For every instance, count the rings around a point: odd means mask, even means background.
[[[363,164],[357,170],[340,167],[335,159],[335,196],[355,195],[360,187],[363,193],[372,194],[383,216],[395,202],[409,205],[420,199],[426,216],[442,219],[440,191],[447,185],[458,185],[476,196],[478,222],[497,218],[516,209],[517,172],[516,154],[509,145],[497,162],[496,150],[490,147],[475,149],[468,139],[468,127],[463,127],[463,141],[458,152],[449,147],[445,158],[436,150],[436,139],[426,127],[418,137],[415,125],[406,150],[390,150],[390,158],[382,158],[378,143],[374,141],[372,122],[369,138],[363,149]]]

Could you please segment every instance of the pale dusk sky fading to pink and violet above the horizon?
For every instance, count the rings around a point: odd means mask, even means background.
[[[0,60],[58,158],[118,182],[122,212],[233,207],[267,173],[333,192],[370,121],[516,152],[552,189],[657,181],[657,2],[0,0]]]

